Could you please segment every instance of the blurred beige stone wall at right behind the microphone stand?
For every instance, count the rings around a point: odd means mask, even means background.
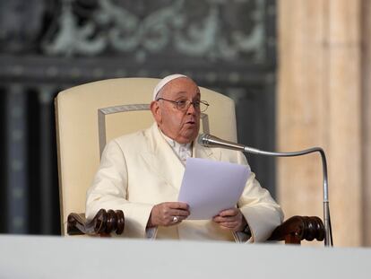
[[[367,0],[278,1],[277,149],[324,147],[336,246],[370,245],[367,14]],[[323,216],[319,155],[280,159],[277,181],[287,216]]]

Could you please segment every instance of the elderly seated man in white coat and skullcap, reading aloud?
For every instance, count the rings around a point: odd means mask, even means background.
[[[124,237],[167,240],[266,240],[283,219],[280,206],[252,172],[237,206],[211,220],[187,220],[189,206],[177,202],[186,158],[244,164],[242,153],[201,146],[201,112],[207,109],[196,83],[172,74],[153,91],[154,124],[109,142],[88,190],[88,219],[100,208],[123,210]]]

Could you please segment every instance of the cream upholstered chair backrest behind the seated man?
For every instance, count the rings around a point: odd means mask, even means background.
[[[56,96],[56,139],[62,234],[67,216],[85,212],[85,197],[105,144],[153,123],[149,104],[159,79],[118,78],[86,83]],[[236,141],[233,100],[200,87],[211,105],[200,132]]]

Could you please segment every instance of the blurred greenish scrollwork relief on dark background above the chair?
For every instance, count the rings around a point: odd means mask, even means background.
[[[119,53],[202,57],[211,61],[265,57],[265,0],[60,0],[60,15],[43,40],[51,56]]]

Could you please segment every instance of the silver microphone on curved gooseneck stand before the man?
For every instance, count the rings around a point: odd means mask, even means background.
[[[329,205],[329,188],[328,188],[328,179],[327,179],[327,162],[326,155],[324,150],[321,147],[313,147],[302,151],[289,152],[289,153],[275,153],[259,150],[253,147],[249,147],[243,144],[232,143],[219,137],[210,134],[202,134],[197,138],[197,143],[206,147],[220,147],[227,148],[232,150],[241,151],[244,153],[253,153],[257,155],[272,156],[272,157],[294,157],[301,156],[308,153],[318,152],[321,154],[322,159],[322,170],[324,173],[324,246],[333,246],[332,243],[332,227],[330,219],[330,205]]]

